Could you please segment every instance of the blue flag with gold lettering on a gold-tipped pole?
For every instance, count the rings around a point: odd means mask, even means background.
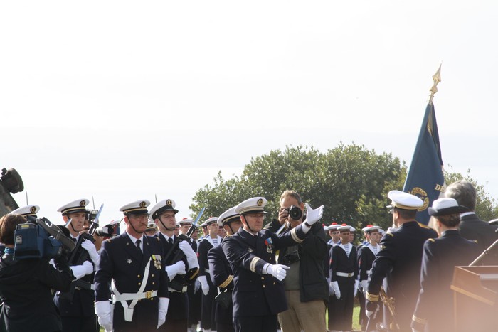
[[[439,144],[438,124],[435,119],[434,105],[429,102],[418,134],[415,152],[406,176],[403,191],[423,200],[423,207],[417,212],[417,221],[427,225],[430,215],[427,208],[444,191],[443,159]]]

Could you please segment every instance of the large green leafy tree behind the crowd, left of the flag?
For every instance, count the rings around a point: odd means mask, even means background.
[[[219,215],[253,196],[267,198],[266,210],[276,218],[282,191],[294,189],[312,207],[325,205],[324,223],[389,223],[386,193],[401,188],[406,166],[391,154],[376,154],[364,146],[339,144],[323,154],[313,147],[274,150],[252,158],[240,178],[225,180],[221,173],[196,192],[194,212],[207,206],[207,215]],[[372,213],[377,210],[376,213]]]

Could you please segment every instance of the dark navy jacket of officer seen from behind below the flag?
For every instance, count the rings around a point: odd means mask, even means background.
[[[381,251],[373,261],[366,299],[372,301],[377,296],[378,300],[382,281],[387,277],[386,293],[394,298],[396,320],[402,331],[410,328],[420,291],[423,244],[437,236],[429,227],[409,221],[393,232],[386,232],[381,240]]]

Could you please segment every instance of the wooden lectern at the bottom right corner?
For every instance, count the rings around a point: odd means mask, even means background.
[[[455,331],[498,330],[498,266],[455,267]]]

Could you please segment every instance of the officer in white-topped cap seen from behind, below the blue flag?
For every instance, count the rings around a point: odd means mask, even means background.
[[[410,331],[420,291],[423,244],[438,234],[415,220],[418,208],[423,207],[423,200],[403,191],[389,191],[388,198],[392,200],[388,208],[391,208],[393,224],[397,228],[382,237],[381,251],[373,261],[365,296],[366,315],[371,316],[376,311],[383,279],[387,277],[386,294],[395,301],[396,321],[401,331]],[[392,325],[392,321],[388,325]]]

